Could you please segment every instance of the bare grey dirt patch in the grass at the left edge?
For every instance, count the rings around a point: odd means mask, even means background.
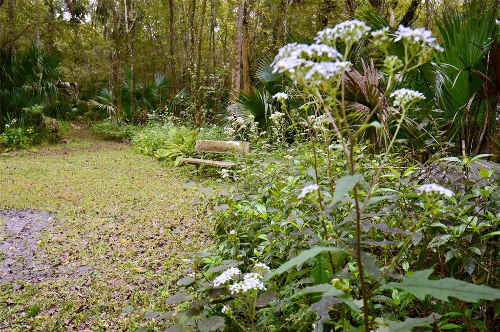
[[[0,210],[0,283],[38,282],[52,276],[37,250],[37,235],[52,221],[47,212]]]

